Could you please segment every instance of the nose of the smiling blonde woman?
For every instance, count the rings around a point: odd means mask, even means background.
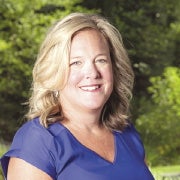
[[[95,63],[87,63],[84,69],[84,74],[86,79],[98,79],[101,77],[101,74]]]

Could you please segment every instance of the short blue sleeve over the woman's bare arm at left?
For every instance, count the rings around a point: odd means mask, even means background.
[[[25,123],[15,134],[9,151],[0,159],[4,177],[10,157],[25,160],[55,179],[55,145],[53,136],[36,119]]]

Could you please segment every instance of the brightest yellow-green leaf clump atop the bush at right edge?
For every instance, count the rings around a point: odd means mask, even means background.
[[[149,87],[152,100],[160,106],[171,107],[180,118],[180,69],[166,68],[163,77],[152,77],[150,81],[153,84]]]

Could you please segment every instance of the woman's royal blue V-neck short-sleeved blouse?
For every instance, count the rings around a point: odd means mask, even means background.
[[[0,159],[4,176],[10,157],[18,157],[49,174],[53,180],[153,180],[144,162],[144,148],[133,126],[114,131],[115,158],[105,160],[81,144],[60,123],[44,128],[36,118],[15,134]]]

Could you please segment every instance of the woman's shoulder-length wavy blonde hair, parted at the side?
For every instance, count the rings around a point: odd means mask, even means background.
[[[28,119],[39,117],[42,125],[48,127],[65,118],[56,96],[68,79],[72,37],[87,28],[103,34],[112,60],[114,87],[103,108],[101,122],[116,130],[122,130],[128,124],[134,74],[121,35],[105,18],[84,13],[72,13],[55,23],[42,43],[33,68]]]

